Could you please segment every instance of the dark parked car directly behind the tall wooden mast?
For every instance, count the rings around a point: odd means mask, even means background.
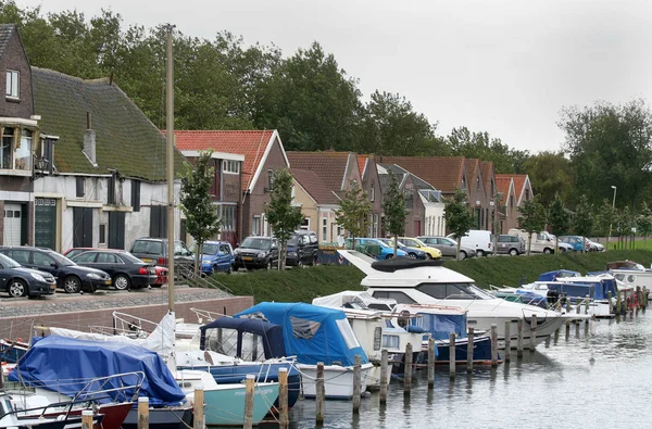
[[[166,238],[139,238],[129,253],[148,264],[167,267],[167,243]],[[195,268],[195,255],[181,240],[174,240],[174,268],[178,277],[188,277]]]

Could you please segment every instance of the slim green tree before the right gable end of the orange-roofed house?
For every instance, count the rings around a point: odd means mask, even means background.
[[[286,243],[301,225],[301,207],[292,205],[292,175],[288,168],[274,172],[269,202],[265,204],[265,216],[278,240],[278,269],[285,268]]]

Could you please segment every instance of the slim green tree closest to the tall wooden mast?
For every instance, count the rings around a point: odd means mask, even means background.
[[[203,243],[220,232],[221,219],[211,199],[215,172],[209,166],[213,151],[201,152],[195,165],[186,163],[181,176],[179,205],[186,215],[186,230],[195,239],[195,278],[198,276]]]

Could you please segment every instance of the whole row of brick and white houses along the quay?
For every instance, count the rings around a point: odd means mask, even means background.
[[[167,218],[164,133],[111,79],[84,80],[33,67],[14,25],[0,25],[0,244],[129,249],[139,237],[165,237],[184,216]],[[275,171],[289,168],[301,228],[319,242],[346,234],[339,201],[361,184],[372,202],[367,235],[386,235],[383,192],[389,172],[400,179],[409,216],[405,234],[443,235],[443,198],[467,192],[477,227],[515,226],[517,207],[531,198],[527,176],[497,175],[490,162],[464,157],[379,157],[352,152],[286,152],[276,130],[175,131],[175,171],[211,149],[211,189],[222,217],[220,238],[231,243],[272,230],[264,206]],[[178,203],[179,182],[175,182]],[[502,192],[504,209],[494,197]]]

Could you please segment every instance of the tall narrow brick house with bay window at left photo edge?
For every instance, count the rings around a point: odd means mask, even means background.
[[[0,244],[34,244],[34,116],[32,71],[18,29],[0,24]]]

